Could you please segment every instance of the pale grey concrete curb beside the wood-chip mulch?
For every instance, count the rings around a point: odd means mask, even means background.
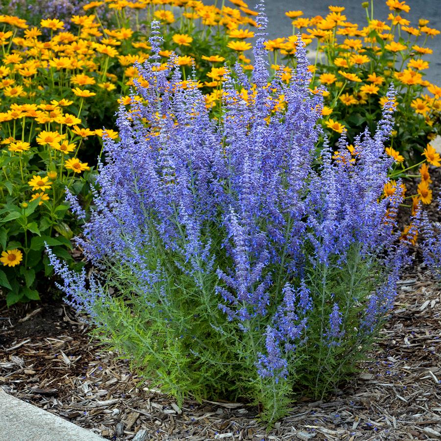
[[[105,441],[90,430],[7,394],[0,387],[0,441]]]

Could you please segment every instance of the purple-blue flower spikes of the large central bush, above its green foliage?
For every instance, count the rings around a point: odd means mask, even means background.
[[[262,14],[258,21],[262,31]],[[332,300],[326,278],[314,272],[344,267],[356,249],[357,259],[374,263],[383,276],[357,316],[360,332],[371,332],[392,305],[406,255],[396,244],[402,195],[383,195],[394,161],[384,151],[393,126],[393,87],[376,132],[357,136],[352,153],[345,133],[337,146],[324,139],[319,148],[323,91],[309,88],[300,37],[291,79],[279,70],[268,81],[262,31],[251,79],[240,65],[226,67],[222,110],[214,118],[196,79],[182,82],[175,56],[159,69],[156,30],[154,23],[153,62],[136,65],[149,87],[134,79],[131,105],[121,105],[117,114],[120,140],[104,138],[99,190],[78,239],[88,260],[110,278],[127,269],[138,283],[131,288],[152,308],[158,306],[152,299],[159,296],[163,306],[176,295],[164,291],[164,280],[191,278],[201,296],[215,296],[226,322],[257,332],[257,371],[278,380],[308,341],[314,314],[320,339],[328,347],[343,345],[348,308]],[[75,287],[63,268],[58,272],[73,302],[93,309],[101,296],[96,284]]]

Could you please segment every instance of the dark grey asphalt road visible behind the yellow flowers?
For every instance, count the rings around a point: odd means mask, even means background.
[[[215,0],[204,0],[206,4],[214,4]],[[222,0],[217,0],[220,5]],[[245,0],[249,7],[254,8],[256,0]],[[303,17],[313,17],[316,15],[326,15],[327,6],[345,6],[345,15],[351,23],[358,23],[360,27],[366,23],[366,11],[361,6],[361,0],[266,0],[266,14],[268,16],[268,38],[286,37],[291,35],[291,19],[285,16],[289,10],[302,10]],[[226,5],[233,6],[228,0]],[[411,21],[411,25],[418,23],[418,19],[430,20],[428,26],[441,30],[441,0],[407,0],[411,8],[410,12],[401,15]],[[386,21],[389,14],[389,7],[385,0],[373,1],[373,17],[378,20]],[[421,38],[421,37],[420,37]],[[421,39],[420,45],[422,45]],[[433,54],[426,55],[424,59],[430,62],[430,68],[425,71],[426,79],[441,85],[441,34],[429,37],[427,47],[433,49]]]

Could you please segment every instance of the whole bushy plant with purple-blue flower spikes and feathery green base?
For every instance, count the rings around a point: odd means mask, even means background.
[[[251,80],[225,75],[217,119],[175,57],[158,69],[160,42],[153,32],[154,62],[137,66],[142,100],[119,109],[121,140],[105,139],[79,239],[99,271],[51,262],[68,302],[152,385],[179,403],[246,397],[271,424],[295,395],[348,378],[392,306],[406,260],[400,183],[383,195],[395,93],[376,132],[352,154],[343,134],[334,154],[300,39],[291,80],[268,83],[261,34]]]

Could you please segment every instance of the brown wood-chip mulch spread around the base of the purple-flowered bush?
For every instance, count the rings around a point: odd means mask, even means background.
[[[41,309],[40,309],[41,308]],[[182,412],[148,389],[127,361],[102,350],[62,303],[0,312],[6,392],[110,440],[436,440],[441,438],[441,290],[421,265],[399,285],[395,309],[364,373],[327,401],[302,401],[269,434],[240,403]],[[26,319],[27,317],[27,319]]]

